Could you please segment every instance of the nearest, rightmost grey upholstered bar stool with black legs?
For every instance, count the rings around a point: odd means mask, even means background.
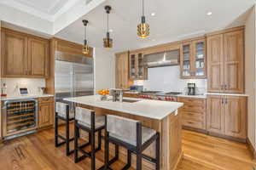
[[[131,153],[137,155],[137,170],[142,170],[142,158],[154,162],[155,169],[160,169],[160,133],[142,126],[142,122],[121,116],[108,115],[105,131],[105,165],[100,170],[111,169],[113,161],[109,159],[109,143],[117,144],[127,149],[127,164],[122,170],[131,167]],[[155,158],[143,155],[150,144],[155,141]]]

